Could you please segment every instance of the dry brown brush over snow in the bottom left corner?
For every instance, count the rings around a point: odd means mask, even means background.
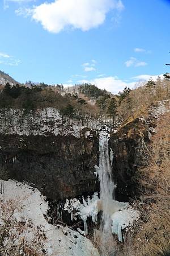
[[[44,256],[44,232],[31,220],[19,218],[20,200],[0,201],[0,253],[2,256]]]

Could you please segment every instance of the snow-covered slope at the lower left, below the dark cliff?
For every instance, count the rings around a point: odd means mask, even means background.
[[[2,183],[3,184],[3,183]],[[1,203],[8,200],[16,201],[20,204],[20,210],[14,210],[16,221],[24,218],[26,222],[31,221],[35,228],[38,226],[45,233],[46,239],[43,248],[48,256],[99,256],[91,241],[73,229],[54,226],[46,221],[48,203],[37,189],[33,189],[27,184],[14,180],[4,182],[4,189],[0,194]],[[0,223],[1,220],[0,214]],[[25,230],[19,234],[29,241],[30,234]]]

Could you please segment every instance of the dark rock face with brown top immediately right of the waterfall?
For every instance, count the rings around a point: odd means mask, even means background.
[[[109,140],[109,147],[114,153],[113,176],[117,183],[116,199],[129,201],[138,196],[138,170],[144,163],[141,134],[148,141],[148,131],[139,119],[113,133]]]

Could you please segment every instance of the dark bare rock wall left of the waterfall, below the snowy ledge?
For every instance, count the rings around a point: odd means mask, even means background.
[[[99,191],[94,174],[98,151],[96,131],[83,127],[78,137],[71,132],[64,136],[0,133],[0,175],[33,183],[54,201],[90,195]]]

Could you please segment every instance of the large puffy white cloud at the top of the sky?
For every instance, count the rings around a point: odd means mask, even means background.
[[[123,8],[121,0],[55,0],[35,6],[32,18],[53,33],[66,28],[88,31],[103,24],[109,11]]]

